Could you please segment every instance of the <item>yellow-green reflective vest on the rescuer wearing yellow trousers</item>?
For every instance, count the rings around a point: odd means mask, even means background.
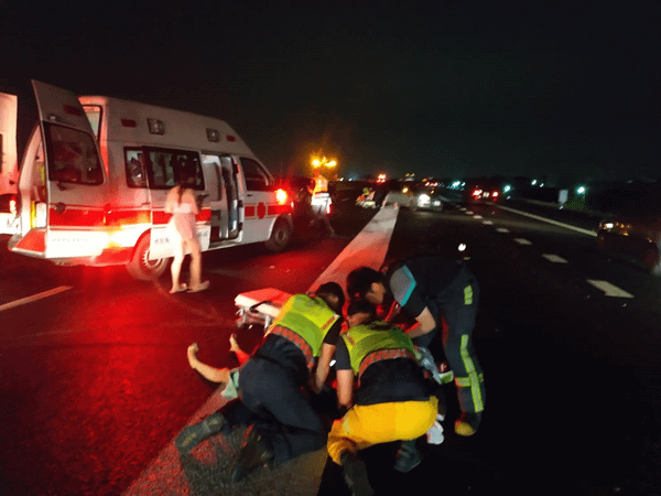
[[[357,325],[342,333],[354,374],[360,376],[375,362],[392,358],[416,360],[413,342],[401,328],[386,322]]]

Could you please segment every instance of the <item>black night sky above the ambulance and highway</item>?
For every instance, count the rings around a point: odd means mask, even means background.
[[[22,126],[32,78],[221,118],[277,174],[661,176],[659,1],[3,4]]]

